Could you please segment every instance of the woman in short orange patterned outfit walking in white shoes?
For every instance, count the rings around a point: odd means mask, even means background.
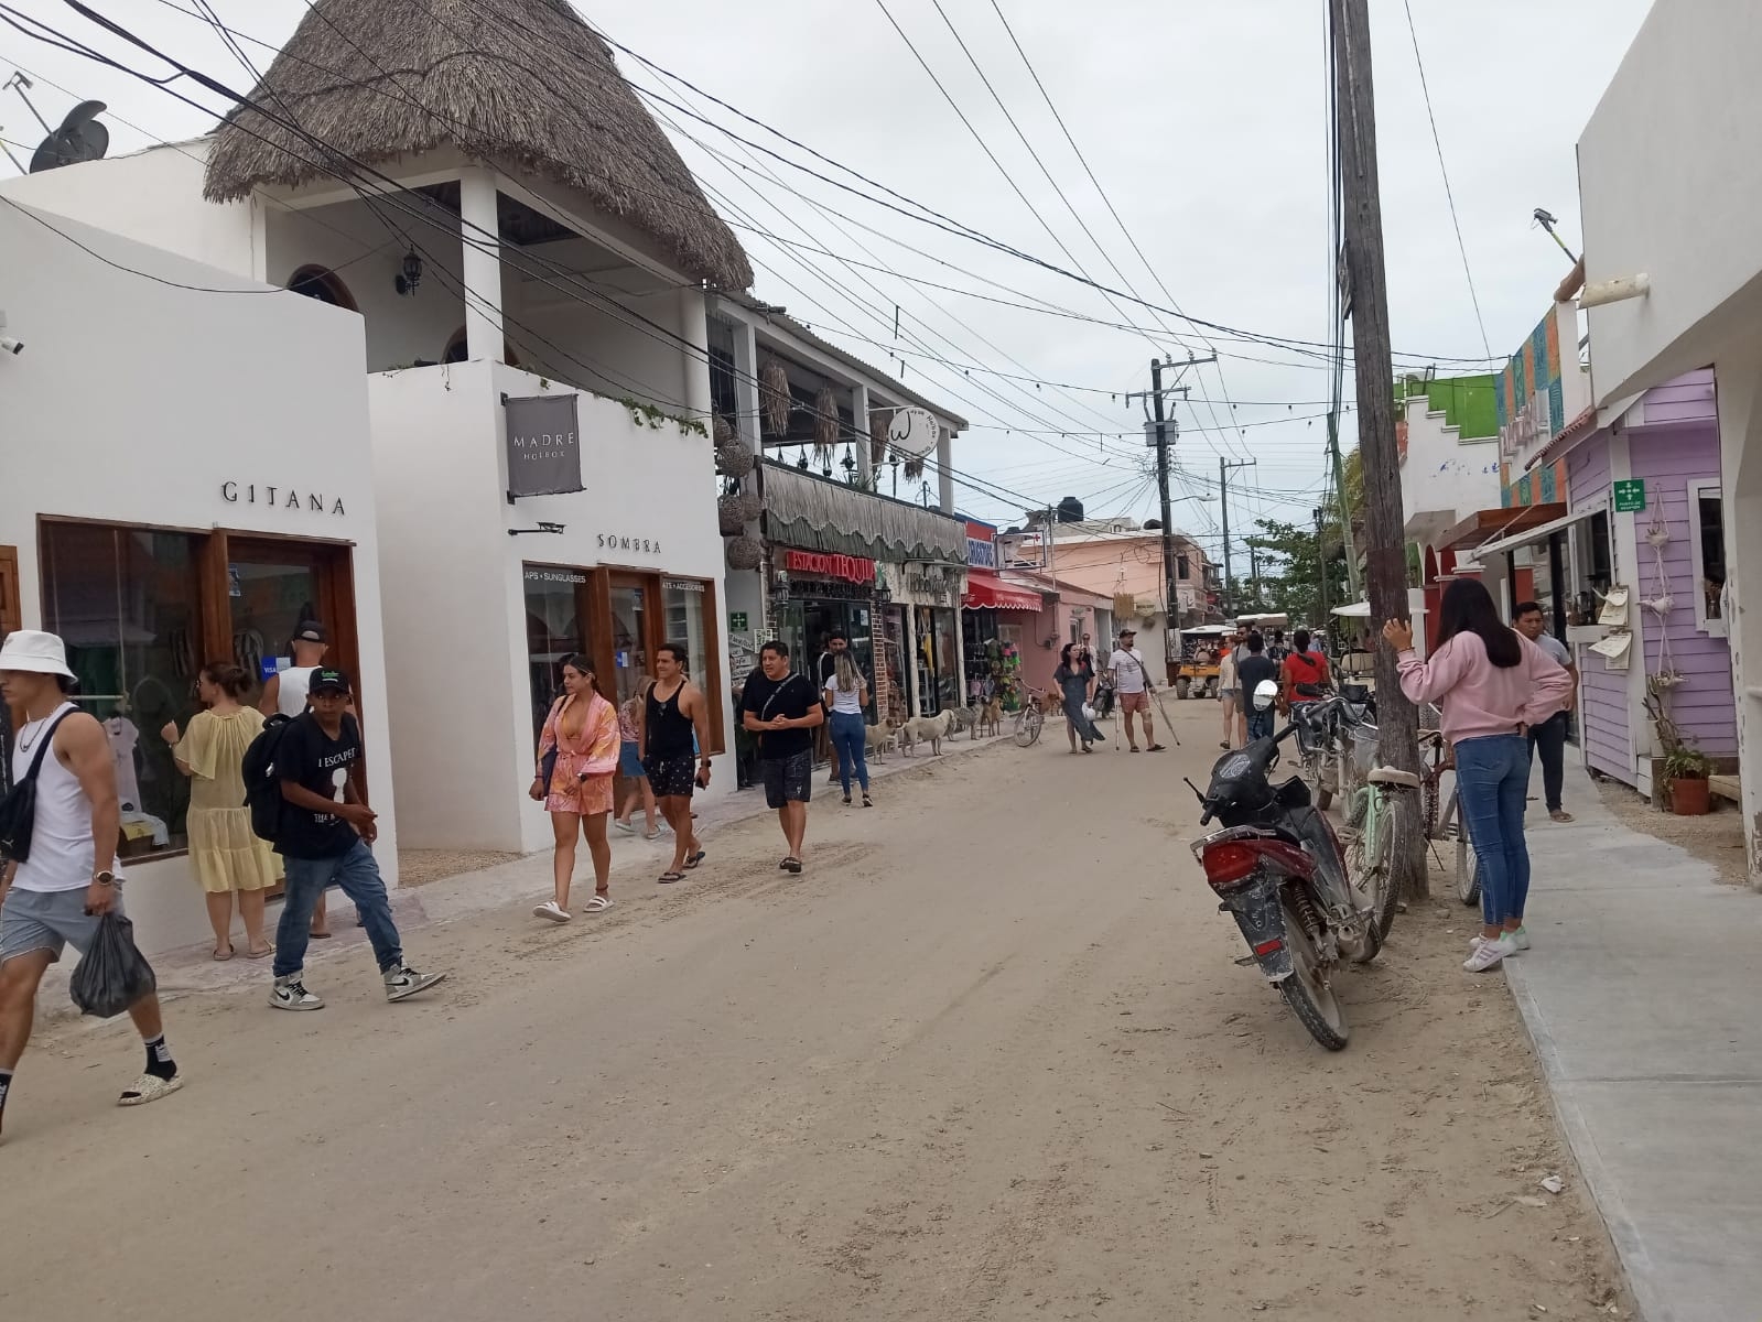
[[[550,784],[544,761],[555,753]],[[594,668],[585,656],[562,661],[562,696],[552,703],[539,735],[539,765],[530,795],[543,800],[552,814],[557,853],[552,871],[557,897],[532,910],[534,918],[569,922],[569,881],[574,876],[574,844],[587,836],[594,857],[594,897],[589,913],[611,908],[611,844],[606,843],[606,818],[611,814],[611,776],[618,767],[618,710],[599,696]]]

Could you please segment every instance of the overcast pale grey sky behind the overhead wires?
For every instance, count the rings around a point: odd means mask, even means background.
[[[150,67],[148,56],[56,0],[12,2],[139,69]],[[520,4],[490,2],[509,12]],[[220,81],[248,86],[248,74],[213,30],[178,12],[194,9],[194,0],[93,4]],[[307,12],[305,0],[213,0],[213,7],[227,26],[270,44],[285,41]],[[1371,0],[1396,349],[1478,360],[1491,345],[1505,356],[1540,321],[1570,264],[1531,212],[1545,206],[1558,215],[1577,250],[1573,143],[1649,4],[1411,0],[1411,7],[1480,317],[1445,201],[1408,11],[1403,0]],[[1022,252],[1158,305],[1172,294],[1193,317],[1256,335],[1329,337],[1322,0],[1091,0],[1077,7],[1068,0],[996,0],[996,7],[994,0],[941,0],[1033,152],[950,33],[937,0],[578,0],[578,9],[611,39],[756,120]],[[1064,141],[999,9],[1149,270]],[[248,41],[243,46],[259,67],[270,58]],[[39,78],[33,99],[51,122],[76,97],[109,102],[113,152],[190,137],[211,125],[210,115],[153,86],[0,26],[0,78],[19,67]],[[620,67],[634,83],[807,160],[629,56],[620,56]],[[183,90],[224,109],[197,88]],[[1191,497],[1175,506],[1177,525],[1216,555],[1219,455],[1258,460],[1232,478],[1240,492],[1232,494],[1232,534],[1239,538],[1263,515],[1309,520],[1325,476],[1325,430],[1313,416],[1323,407],[1329,377],[1316,360],[1198,333],[1179,317],[1129,301],[1115,307],[1092,287],[860,201],[770,157],[747,155],[715,129],[661,111],[703,141],[700,146],[666,125],[747,245],[758,270],[754,293],[877,367],[897,372],[904,361],[907,384],[946,400],[973,423],[957,446],[955,467],[988,490],[959,485],[966,511],[1010,524],[1029,502],[1077,495],[1091,515],[1154,515],[1156,488],[1140,471],[1144,414],[1136,405],[1128,409],[1124,391],[1149,384],[1154,354],[1179,358],[1191,349],[1203,356],[1209,338],[1221,361],[1186,377],[1195,390],[1177,418],[1181,467],[1212,485],[1184,474],[1177,479],[1177,497]],[[0,137],[30,145],[41,137],[16,92],[0,97]],[[1036,160],[1092,231],[1099,252]],[[4,160],[0,173],[11,173]],[[809,199],[851,220],[828,217]],[[781,245],[754,229],[837,257]],[[839,257],[885,270],[853,270]],[[888,271],[1129,321],[1151,335],[925,289]],[[904,353],[890,360],[895,305]],[[1445,361],[1440,374],[1452,368]]]

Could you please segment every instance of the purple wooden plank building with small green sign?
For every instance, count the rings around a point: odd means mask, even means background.
[[[1584,763],[1651,793],[1651,758],[1662,749],[1644,709],[1647,677],[1674,677],[1667,714],[1690,744],[1711,756],[1737,753],[1713,370],[1618,402],[1600,418],[1598,430],[1558,442],[1570,446],[1573,524],[1556,580],[1579,620],[1566,640],[1582,677]],[[1609,622],[1603,598],[1621,589],[1626,606]],[[1625,657],[1593,650],[1619,649],[1623,633]]]

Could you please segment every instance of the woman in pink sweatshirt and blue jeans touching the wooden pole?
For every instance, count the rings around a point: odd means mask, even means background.
[[[1443,709],[1443,735],[1455,747],[1462,825],[1480,860],[1480,917],[1485,924],[1462,964],[1482,973],[1529,948],[1524,899],[1529,848],[1524,800],[1529,795],[1526,732],[1566,705],[1572,679],[1540,647],[1499,620],[1487,589],[1457,578],[1438,608],[1438,647],[1429,661],[1413,654],[1413,626],[1388,620],[1383,638],[1396,649],[1401,691]]]

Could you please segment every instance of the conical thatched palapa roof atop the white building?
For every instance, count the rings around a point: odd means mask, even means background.
[[[569,0],[317,0],[250,100],[335,153],[382,166],[455,145],[587,194],[687,275],[752,266],[611,51]],[[215,134],[210,201],[324,178],[319,148],[238,106]]]

